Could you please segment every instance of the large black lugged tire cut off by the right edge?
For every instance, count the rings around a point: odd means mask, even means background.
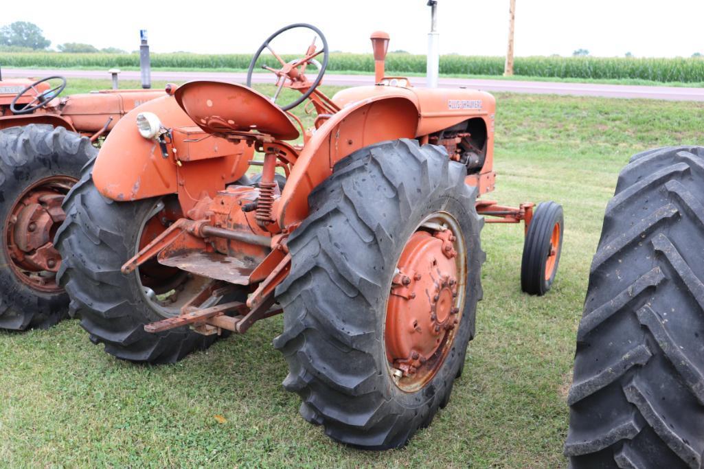
[[[700,468],[704,148],[631,161],[591,264],[565,455],[574,468]]]

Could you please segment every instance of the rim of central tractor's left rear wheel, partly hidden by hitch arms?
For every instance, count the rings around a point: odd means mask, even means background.
[[[153,241],[167,227],[181,218],[180,208],[174,201],[156,201],[139,227],[134,254]],[[196,295],[208,282],[206,277],[191,275],[184,270],[161,265],[151,259],[139,266],[136,273],[142,299],[162,318],[180,315],[181,307]],[[208,307],[211,305],[205,305]]]

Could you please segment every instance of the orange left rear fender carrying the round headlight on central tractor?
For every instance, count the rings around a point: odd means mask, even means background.
[[[156,140],[137,130],[137,115],[155,113],[172,130],[168,157]],[[115,124],[93,168],[98,191],[115,201],[178,194],[187,211],[201,196],[213,196],[246,173],[253,149],[208,135],[196,126],[172,96],[137,106]]]

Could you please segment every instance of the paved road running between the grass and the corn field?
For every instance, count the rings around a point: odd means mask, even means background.
[[[109,78],[108,73],[102,70],[38,70],[26,68],[4,68],[4,77],[46,77],[55,74],[67,78]],[[270,73],[256,73],[255,82],[274,82],[274,75]],[[231,82],[244,82],[245,73],[227,72],[164,72],[153,71],[151,79],[155,81],[188,81],[188,80],[224,80]],[[139,80],[139,72],[124,71],[120,73],[120,80]],[[411,77],[415,86],[425,86],[425,77]],[[329,73],[323,80],[325,85],[355,86],[372,85],[374,77],[371,75],[334,75]],[[596,83],[565,83],[565,82],[524,82],[517,80],[474,80],[467,78],[441,78],[440,87],[457,88],[467,87],[482,89],[488,92],[513,92],[529,94],[568,94],[573,96],[603,96],[607,98],[642,98],[642,99],[667,99],[669,101],[704,101],[703,88],[684,87],[646,87],[636,85],[599,85]]]

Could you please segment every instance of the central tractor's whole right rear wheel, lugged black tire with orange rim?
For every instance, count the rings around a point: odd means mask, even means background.
[[[284,388],[339,442],[402,446],[448,403],[486,257],[465,175],[438,146],[368,146],[315,189],[289,239],[291,272],[276,291]]]

